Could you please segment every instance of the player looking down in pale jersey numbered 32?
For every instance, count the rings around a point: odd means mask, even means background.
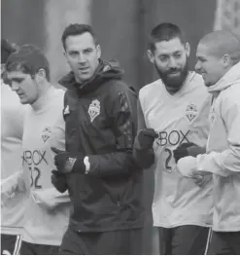
[[[68,225],[69,196],[51,184],[51,145],[61,149],[65,145],[64,133],[58,137],[54,133],[62,118],[64,91],[51,86],[48,59],[35,46],[24,45],[10,55],[6,70],[11,89],[21,104],[28,104],[22,137],[23,174],[17,183],[28,196],[20,254],[57,254]]]

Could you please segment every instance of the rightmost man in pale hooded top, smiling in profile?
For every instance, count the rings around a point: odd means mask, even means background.
[[[214,96],[207,154],[183,158],[178,168],[188,177],[213,173],[209,254],[240,255],[240,42],[230,31],[212,32],[200,40],[196,57],[195,69]]]

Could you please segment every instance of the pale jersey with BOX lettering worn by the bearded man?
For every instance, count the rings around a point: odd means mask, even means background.
[[[161,80],[139,92],[147,128],[154,128],[154,226],[211,226],[212,181],[198,187],[176,170],[173,150],[193,142],[206,146],[211,96],[200,75],[189,72],[183,88],[171,95]]]

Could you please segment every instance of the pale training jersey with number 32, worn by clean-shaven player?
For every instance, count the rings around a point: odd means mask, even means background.
[[[29,106],[24,119],[22,165],[28,199],[22,239],[30,243],[60,245],[68,225],[68,195],[58,193],[51,184],[51,170],[56,169],[51,146],[64,150],[64,130],[54,135],[53,145],[51,141],[58,120],[63,120],[63,95],[64,91],[51,87]],[[45,195],[50,203],[57,201],[58,206],[49,209],[38,195]]]

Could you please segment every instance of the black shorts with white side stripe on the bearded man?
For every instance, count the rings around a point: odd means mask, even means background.
[[[185,225],[176,228],[158,228],[161,255],[204,255],[207,253],[211,229]]]

